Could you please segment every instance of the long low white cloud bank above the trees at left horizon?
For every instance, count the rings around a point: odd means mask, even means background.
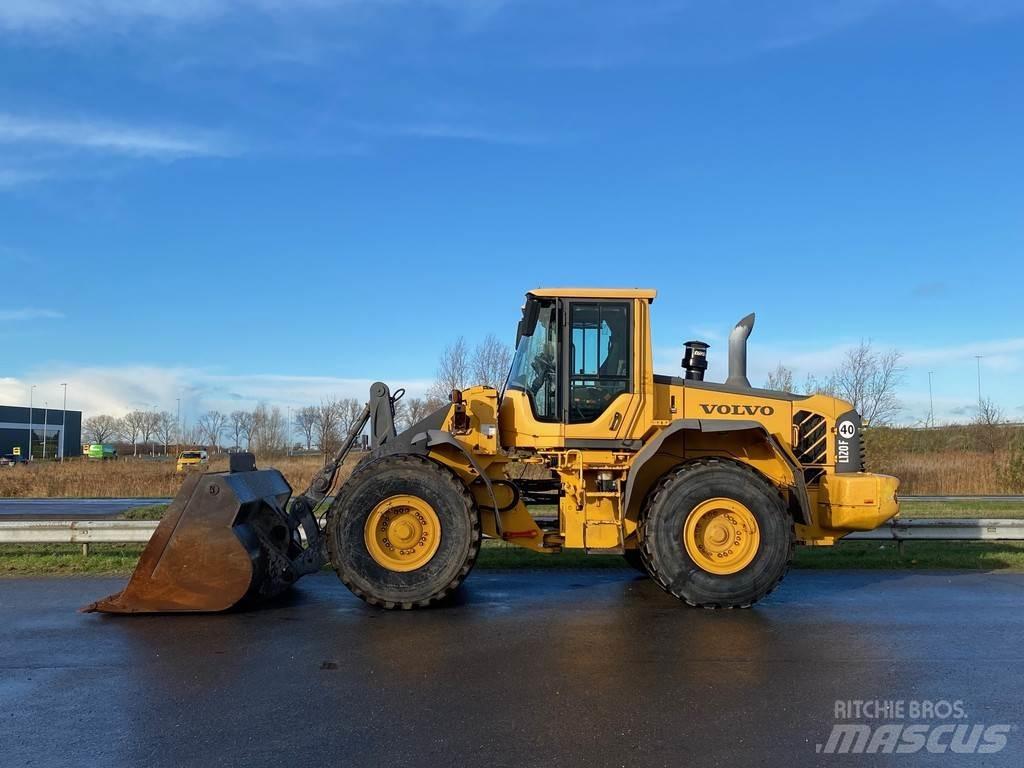
[[[115,367],[50,366],[18,378],[0,378],[0,402],[28,402],[29,387],[36,385],[37,402],[59,402],[60,384],[68,382],[68,408],[82,411],[86,418],[98,414],[123,416],[135,409],[174,412],[181,399],[184,417],[190,422],[202,413],[216,409],[230,412],[251,409],[263,401],[282,410],[319,402],[328,397],[355,397],[366,400],[372,379],[329,376],[286,376],[281,374],[225,374],[185,367],[148,365]],[[409,396],[422,396],[425,380],[385,379],[392,389],[404,387]]]

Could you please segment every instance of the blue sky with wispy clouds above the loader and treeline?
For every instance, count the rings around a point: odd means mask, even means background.
[[[541,285],[1024,420],[1024,2],[5,0],[0,400],[422,391]]]

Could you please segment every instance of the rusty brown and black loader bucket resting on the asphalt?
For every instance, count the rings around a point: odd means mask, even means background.
[[[231,464],[234,471],[187,478],[125,589],[82,610],[226,610],[278,595],[317,570],[323,543],[308,505],[289,511],[284,476],[256,470],[251,456],[232,456]]]

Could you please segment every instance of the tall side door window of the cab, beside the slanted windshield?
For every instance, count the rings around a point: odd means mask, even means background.
[[[630,305],[573,302],[569,309],[568,423],[592,422],[630,391]]]

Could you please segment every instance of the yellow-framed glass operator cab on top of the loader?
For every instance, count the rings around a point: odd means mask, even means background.
[[[641,289],[526,294],[502,399],[502,434],[518,435],[509,444],[528,444],[532,436],[537,447],[570,446],[577,433],[623,437],[642,392],[638,372],[650,371],[642,361],[650,354],[654,295]]]

